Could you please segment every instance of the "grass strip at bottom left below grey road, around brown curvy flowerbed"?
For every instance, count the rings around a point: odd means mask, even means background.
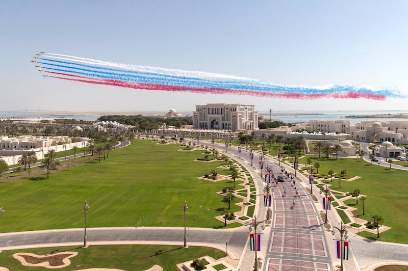
[[[34,253],[37,255],[50,254],[52,252],[78,252],[78,255],[70,258],[71,264],[64,270],[78,270],[86,268],[117,268],[122,270],[146,270],[158,264],[164,270],[179,270],[176,264],[201,258],[208,255],[215,259],[225,256],[225,252],[205,247],[189,246],[182,249],[180,246],[149,246],[149,245],[125,245],[125,246],[89,246],[81,247],[56,247],[41,249],[25,249],[2,251],[0,254],[0,266],[9,270],[50,270],[45,267],[25,267],[20,261],[13,258],[17,252]]]

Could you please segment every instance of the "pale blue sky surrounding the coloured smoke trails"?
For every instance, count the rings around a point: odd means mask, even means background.
[[[290,86],[356,85],[408,95],[407,1],[4,1],[5,110],[191,112],[407,110],[408,99],[296,100],[171,93],[44,78],[42,50],[133,65],[207,71]]]

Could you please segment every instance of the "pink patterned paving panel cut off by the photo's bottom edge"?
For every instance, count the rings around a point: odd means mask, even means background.
[[[324,262],[308,262],[298,260],[285,260],[269,258],[266,266],[268,271],[286,271],[286,270],[302,270],[302,271],[329,271],[329,264]]]

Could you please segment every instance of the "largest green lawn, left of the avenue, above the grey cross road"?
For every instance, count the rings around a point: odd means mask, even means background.
[[[203,151],[181,151],[179,145],[135,140],[130,147],[110,152],[99,162],[53,171],[32,177],[10,177],[0,184],[0,232],[81,228],[84,200],[90,210],[88,227],[184,226],[184,201],[189,206],[187,226],[222,228],[214,219],[227,203],[217,194],[232,180],[197,179],[216,170],[228,175],[223,161],[194,161]],[[79,159],[86,159],[79,158]],[[45,172],[45,170],[43,170]],[[23,176],[23,175],[22,175]],[[237,180],[237,187],[242,181]],[[242,199],[236,198],[235,203]],[[240,208],[233,203],[231,212]],[[144,218],[143,218],[144,217]],[[235,227],[237,224],[228,224]]]

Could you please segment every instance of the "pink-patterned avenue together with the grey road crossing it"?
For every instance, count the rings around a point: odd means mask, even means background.
[[[212,147],[209,142],[200,144]],[[239,160],[254,176],[258,200],[255,212],[260,220],[266,219],[266,207],[260,197],[264,179],[260,177],[258,166],[259,155],[255,155],[253,166],[249,155],[243,150],[241,158],[236,147],[228,148],[228,153],[222,145],[214,147]],[[266,163],[277,173],[280,167],[273,159],[267,159]],[[283,165],[283,164],[282,164]],[[293,172],[290,167],[285,166]],[[266,168],[266,165],[265,165]],[[331,270],[334,262],[334,241],[330,231],[324,231],[318,211],[321,210],[320,202],[313,201],[304,187],[308,187],[304,176],[298,176],[296,181],[299,197],[295,197],[295,188],[290,183],[278,183],[273,191],[273,215],[272,227],[267,227],[263,235],[262,250],[258,257],[263,263],[264,270],[274,270],[278,266],[286,266],[291,270]],[[315,192],[318,191],[314,187]],[[285,194],[286,191],[286,194]],[[318,197],[319,198],[319,197]],[[293,207],[295,199],[295,208]],[[319,207],[320,206],[320,207]],[[339,224],[339,218],[334,208],[328,211],[328,219],[331,225]],[[235,229],[202,229],[189,228],[187,230],[188,245],[203,245],[224,249],[228,243],[228,254],[232,258],[240,259],[239,270],[251,270],[253,267],[254,253],[249,251],[247,226]],[[63,229],[48,231],[32,231],[0,234],[0,250],[18,249],[27,247],[57,246],[57,245],[82,245],[84,239],[83,229]],[[267,241],[266,241],[267,240]],[[362,270],[369,264],[378,261],[408,261],[408,246],[368,241],[360,236],[350,234],[351,255],[350,260],[345,261],[345,270]],[[87,242],[89,245],[101,243],[165,243],[183,245],[184,228],[161,228],[161,227],[119,227],[119,228],[88,228]],[[312,249],[311,249],[312,248]],[[330,261],[331,259],[331,261]],[[297,267],[296,267],[297,266]],[[364,269],[363,269],[364,270]]]

